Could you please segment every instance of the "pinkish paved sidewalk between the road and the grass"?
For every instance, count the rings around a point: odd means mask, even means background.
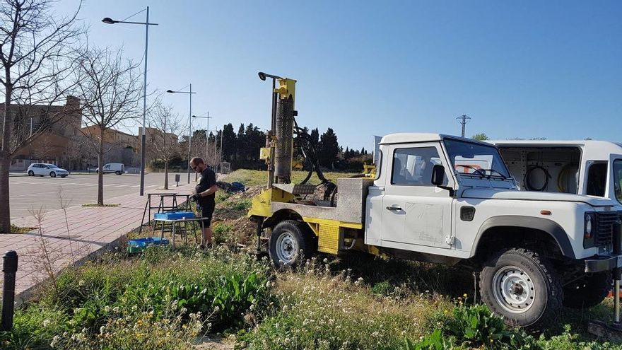
[[[160,189],[151,192],[187,194],[191,189],[189,185],[180,185],[169,191]],[[159,201],[159,197],[156,198]],[[147,196],[127,194],[107,200],[108,204],[120,206],[71,206],[66,209],[66,219],[63,209],[48,211],[41,227],[47,251],[52,257],[49,265],[53,266],[54,272],[59,272],[71,262],[78,264],[100,250],[114,247],[129,231],[139,228],[146,201]],[[13,224],[21,227],[38,226],[35,218],[20,218],[13,220]],[[44,250],[40,231],[37,229],[20,235],[0,235],[0,252],[4,254],[6,250],[16,250],[18,253],[16,298],[23,301],[30,296],[33,287],[47,279],[45,264],[41,262],[45,254],[42,254]]]

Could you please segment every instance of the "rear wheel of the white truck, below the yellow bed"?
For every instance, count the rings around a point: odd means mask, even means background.
[[[270,258],[277,267],[290,267],[315,254],[315,235],[305,223],[281,221],[270,235]]]

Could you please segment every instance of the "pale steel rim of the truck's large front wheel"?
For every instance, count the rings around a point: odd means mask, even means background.
[[[535,292],[533,279],[520,267],[503,267],[493,277],[495,300],[510,313],[525,313],[532,308]]]

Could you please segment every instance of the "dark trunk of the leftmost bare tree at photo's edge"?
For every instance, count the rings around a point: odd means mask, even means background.
[[[6,81],[11,80],[11,72],[6,69]],[[13,87],[5,85],[4,95],[4,122],[2,129],[2,144],[0,145],[0,233],[11,232],[11,204],[8,196],[8,168],[11,167],[11,132],[13,118],[11,117],[11,95]]]

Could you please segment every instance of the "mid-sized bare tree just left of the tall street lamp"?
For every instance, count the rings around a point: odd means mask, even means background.
[[[79,62],[77,91],[83,101],[86,125],[81,132],[97,149],[98,206],[104,205],[103,157],[112,149],[106,144],[115,141],[106,136],[110,129],[139,117],[142,85],[138,67],[139,64],[122,57],[122,49],[90,49]]]

